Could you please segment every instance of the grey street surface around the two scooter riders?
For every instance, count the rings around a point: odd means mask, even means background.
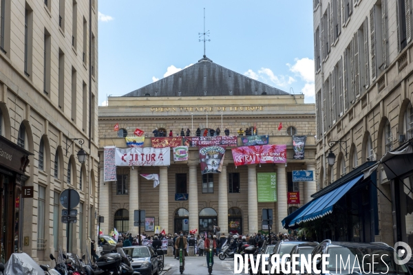
[[[234,261],[233,259],[227,259],[225,261],[220,261],[218,257],[214,257],[214,265],[212,274],[234,274]],[[162,275],[176,275],[179,273],[179,261],[173,259],[173,257],[165,257],[165,267],[171,267],[167,272],[162,272]],[[193,256],[187,257],[185,259],[185,270],[184,274],[198,275],[198,274],[208,274],[207,269],[207,258],[205,256]]]

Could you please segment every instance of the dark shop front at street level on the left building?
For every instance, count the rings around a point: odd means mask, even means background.
[[[22,250],[22,189],[32,153],[0,136],[0,262]],[[32,190],[32,189],[31,189]],[[30,195],[30,194],[29,194]]]

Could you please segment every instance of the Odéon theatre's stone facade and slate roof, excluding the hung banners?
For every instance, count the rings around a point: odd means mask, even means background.
[[[278,130],[280,122],[282,129]],[[114,126],[118,131],[114,131]],[[202,58],[198,63],[155,83],[121,97],[109,97],[108,106],[99,107],[100,155],[107,146],[125,148],[125,137],[145,131],[144,147],[151,147],[154,129],[158,133],[190,136],[210,135],[220,128],[220,135],[238,135],[253,129],[268,135],[269,144],[286,144],[287,162],[235,166],[227,146],[221,173],[202,175],[198,147],[189,147],[189,159],[169,166],[118,166],[117,181],[103,180],[100,160],[100,215],[104,234],[138,232],[134,210],[146,210],[146,217],[167,233],[198,229],[198,233],[219,225],[222,232],[259,232],[262,208],[273,209],[273,231],[285,232],[281,220],[308,201],[315,192],[315,181],[293,182],[293,170],[315,170],[315,105],[304,104],[303,95],[291,95],[264,83],[237,74]],[[207,131],[205,131],[207,130]],[[216,133],[215,133],[216,135]],[[307,135],[305,158],[293,159],[292,135]],[[245,137],[245,135],[244,135]],[[180,137],[181,138],[181,137]],[[242,146],[238,136],[237,146]],[[236,146],[235,146],[236,147]],[[158,174],[160,184],[153,187],[140,174]],[[276,173],[277,202],[258,202],[257,176]],[[300,203],[288,204],[287,192],[299,192]],[[183,194],[183,195],[182,195]],[[183,199],[182,199],[183,197]],[[146,228],[147,229],[147,228]],[[141,228],[153,234],[153,230]]]

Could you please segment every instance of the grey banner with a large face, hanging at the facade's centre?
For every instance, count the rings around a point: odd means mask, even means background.
[[[224,146],[201,147],[200,161],[202,175],[207,173],[221,173],[224,155]]]

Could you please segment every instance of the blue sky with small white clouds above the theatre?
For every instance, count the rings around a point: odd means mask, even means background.
[[[99,105],[198,62],[204,8],[208,58],[315,102],[313,1],[100,0]]]

